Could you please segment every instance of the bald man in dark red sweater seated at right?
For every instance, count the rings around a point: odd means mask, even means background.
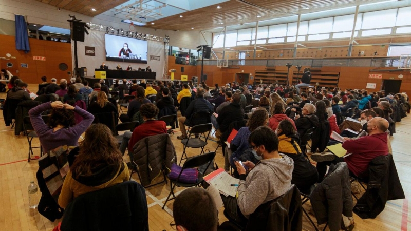
[[[367,122],[368,136],[358,139],[347,139],[343,148],[352,155],[342,158],[335,157],[332,153],[315,153],[311,159],[317,162],[319,180],[324,178],[327,165],[345,161],[351,176],[368,177],[368,165],[372,159],[378,156],[388,155],[388,137],[385,132],[388,129],[388,121],[381,117],[372,118]]]

